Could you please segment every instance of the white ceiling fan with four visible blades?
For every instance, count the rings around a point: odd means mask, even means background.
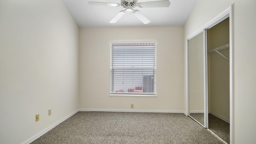
[[[110,23],[115,23],[121,18],[125,12],[133,12],[134,15],[141,20],[144,24],[148,24],[150,20],[144,16],[139,10],[134,10],[136,6],[139,8],[159,8],[159,7],[169,7],[170,1],[169,0],[160,0],[160,1],[152,1],[152,2],[140,2],[138,3],[138,0],[121,0],[120,4],[114,4],[114,3],[106,3],[106,2],[88,2],[90,5],[97,5],[97,6],[122,6],[125,8],[125,10],[120,11],[112,20],[110,20]]]

